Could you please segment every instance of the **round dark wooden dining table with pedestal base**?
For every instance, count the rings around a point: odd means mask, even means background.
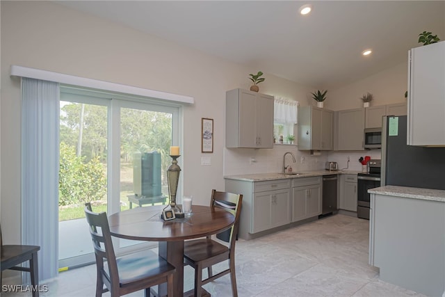
[[[186,218],[163,220],[165,205],[137,207],[108,216],[111,235],[137,241],[158,241],[159,255],[176,267],[174,296],[184,296],[184,240],[217,234],[229,229],[235,217],[218,207],[193,205]],[[167,285],[159,286],[159,296],[167,295]]]

